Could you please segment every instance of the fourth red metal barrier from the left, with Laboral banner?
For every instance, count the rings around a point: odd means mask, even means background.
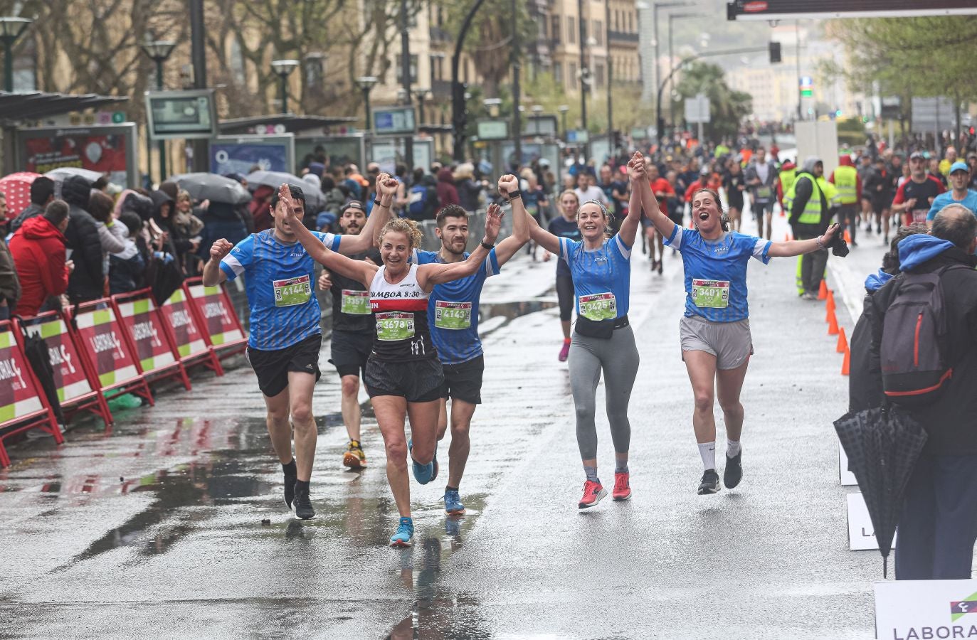
[[[149,380],[176,378],[190,391],[187,369],[152,301],[152,289],[119,293],[113,295],[111,301],[115,317],[132,345],[140,372]]]

